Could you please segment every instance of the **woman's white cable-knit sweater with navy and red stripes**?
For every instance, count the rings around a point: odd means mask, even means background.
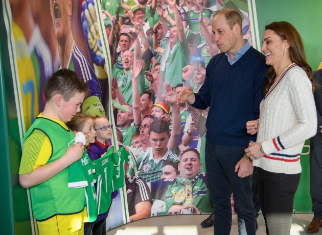
[[[300,173],[305,140],[316,134],[312,84],[306,72],[291,64],[260,104],[257,142],[265,155],[254,166],[285,174]]]

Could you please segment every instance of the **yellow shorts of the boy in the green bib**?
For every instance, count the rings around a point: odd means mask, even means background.
[[[86,221],[86,208],[73,215],[57,215],[48,220],[37,221],[39,235],[83,235]]]

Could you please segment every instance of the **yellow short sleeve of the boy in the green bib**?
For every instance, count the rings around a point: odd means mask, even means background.
[[[47,164],[53,152],[50,139],[41,130],[35,129],[23,144],[19,174],[29,174]]]

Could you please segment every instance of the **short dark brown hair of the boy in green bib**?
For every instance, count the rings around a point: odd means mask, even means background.
[[[45,100],[60,94],[65,101],[70,100],[76,93],[87,93],[88,88],[84,80],[74,71],[64,68],[54,72],[44,87]]]

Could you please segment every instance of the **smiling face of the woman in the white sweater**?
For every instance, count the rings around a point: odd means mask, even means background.
[[[289,60],[287,40],[282,40],[274,31],[265,30],[262,42],[261,50],[265,55],[267,65],[277,66],[283,64],[285,60]],[[284,51],[285,49],[286,51]]]

